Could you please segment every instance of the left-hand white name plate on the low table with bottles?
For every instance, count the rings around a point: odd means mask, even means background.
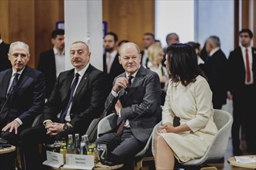
[[[43,165],[60,168],[61,165],[64,165],[63,155],[53,151],[47,151],[47,161],[43,162]]]

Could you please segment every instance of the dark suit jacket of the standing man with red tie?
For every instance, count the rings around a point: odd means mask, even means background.
[[[254,74],[253,86],[256,87],[256,49],[252,48],[252,72]],[[241,48],[238,47],[230,53],[228,59],[229,90],[233,94],[243,93],[245,86],[245,65]],[[255,94],[254,94],[255,95]]]

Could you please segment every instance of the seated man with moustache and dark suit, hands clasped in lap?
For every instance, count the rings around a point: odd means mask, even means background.
[[[40,125],[21,134],[27,169],[40,169],[38,144],[52,144],[67,134],[85,134],[91,121],[99,117],[107,97],[105,74],[89,63],[91,53],[85,42],[71,44],[74,69],[60,73],[43,109]]]

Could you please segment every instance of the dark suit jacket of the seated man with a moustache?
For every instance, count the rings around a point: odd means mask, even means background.
[[[43,109],[44,120],[59,121],[57,114],[67,105],[73,78],[74,69],[62,72],[57,77],[54,90]],[[85,133],[92,119],[102,114],[106,97],[106,75],[89,65],[72,100],[72,126],[80,133]]]

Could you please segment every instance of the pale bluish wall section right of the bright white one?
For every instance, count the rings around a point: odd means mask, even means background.
[[[195,0],[195,41],[203,46],[209,36],[219,36],[228,57],[234,49],[234,1]]]

